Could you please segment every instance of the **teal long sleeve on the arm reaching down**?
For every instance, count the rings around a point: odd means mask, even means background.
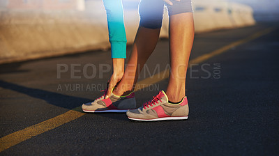
[[[126,31],[123,20],[121,0],[103,0],[107,11],[107,26],[109,29],[112,58],[126,59]]]

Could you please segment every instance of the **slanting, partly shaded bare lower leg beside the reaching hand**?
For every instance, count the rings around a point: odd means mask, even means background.
[[[142,26],[137,30],[137,36],[133,45],[133,52],[130,55],[128,65],[123,78],[114,89],[116,95],[126,95],[134,90],[138,75],[142,70],[149,56],[155,49],[160,35],[160,29],[148,29]]]

